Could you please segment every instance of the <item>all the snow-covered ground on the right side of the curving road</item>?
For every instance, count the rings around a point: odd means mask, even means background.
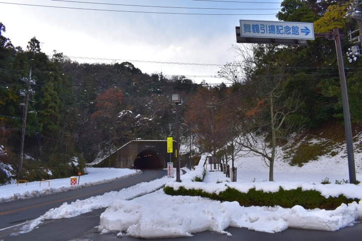
[[[333,157],[322,156],[317,161],[302,167],[290,166],[283,158],[277,157],[274,170],[274,182],[268,181],[268,168],[259,157],[241,157],[236,160],[238,167],[237,182],[227,182],[220,171],[209,172],[207,166],[203,182],[194,182],[196,176],[202,178],[207,155],[203,155],[194,171],[181,176],[181,183],[175,178],[162,178],[147,183],[140,183],[119,192],[109,192],[102,196],[73,203],[65,203],[52,209],[35,221],[27,224],[23,232],[28,232],[44,219],[70,218],[81,213],[108,207],[100,217],[103,232],[117,231],[118,236],[139,238],[165,238],[191,236],[192,233],[205,230],[231,236],[224,230],[227,227],[245,227],[250,230],[275,233],[287,228],[316,229],[336,231],[353,226],[357,219],[362,219],[362,201],[358,204],[342,204],[333,211],[305,210],[301,206],[285,209],[275,207],[241,207],[237,202],[219,202],[201,197],[169,196],[164,185],[178,188],[203,189],[218,192],[226,188],[225,184],[247,192],[255,187],[265,192],[302,187],[318,190],[325,197],[344,194],[346,197],[362,199],[362,184],[335,184],[334,181],[348,179],[347,158],[343,151]],[[357,179],[362,181],[362,154],[355,153]],[[325,178],[331,184],[321,184]],[[221,183],[216,183],[222,181]],[[123,233],[122,233],[123,232]]]

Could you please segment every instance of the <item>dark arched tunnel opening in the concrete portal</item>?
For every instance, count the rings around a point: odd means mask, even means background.
[[[158,169],[165,168],[165,159],[157,151],[141,151],[134,162],[135,169]]]

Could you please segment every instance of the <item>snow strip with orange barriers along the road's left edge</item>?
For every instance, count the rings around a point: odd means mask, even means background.
[[[42,181],[41,186],[39,186],[39,181],[28,182],[27,185],[26,183],[19,183],[19,185],[9,184],[0,186],[0,203],[98,185],[104,182],[133,177],[142,172],[140,170],[119,168],[87,168],[87,173],[87,175],[80,176],[79,185],[71,185],[70,178],[63,178],[49,180],[49,186],[46,181]]]

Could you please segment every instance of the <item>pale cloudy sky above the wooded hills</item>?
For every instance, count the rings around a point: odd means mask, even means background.
[[[24,49],[27,42],[36,36],[41,42],[42,51],[49,55],[53,50],[57,50],[70,57],[117,59],[118,62],[147,60],[212,64],[225,64],[234,60],[234,53],[230,52],[229,48],[232,44],[236,44],[235,27],[239,25],[240,19],[277,20],[275,14],[279,11],[281,3],[281,0],[249,0],[252,3],[246,3],[248,0],[2,1],[119,11],[0,3],[0,22],[6,27],[4,35],[10,38],[15,46],[21,46]],[[232,8],[232,10],[139,7],[91,4],[79,1],[188,8]],[[237,15],[181,15],[121,11]],[[76,60],[79,62],[112,62],[111,60]],[[213,84],[222,82],[222,79],[197,77],[217,75],[218,66],[136,61],[132,63],[146,73],[162,71],[164,75],[185,75],[190,76],[197,83],[202,80]]]

